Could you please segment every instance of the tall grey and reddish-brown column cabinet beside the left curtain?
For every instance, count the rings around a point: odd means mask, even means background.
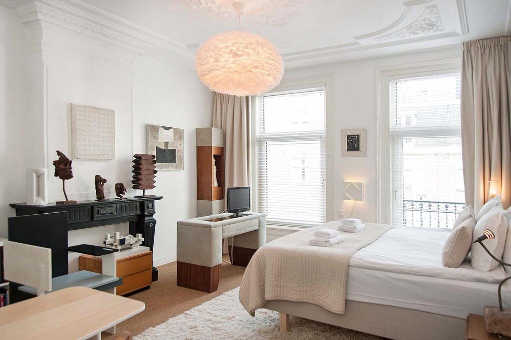
[[[197,216],[219,214],[224,210],[223,131],[214,127],[196,131]]]

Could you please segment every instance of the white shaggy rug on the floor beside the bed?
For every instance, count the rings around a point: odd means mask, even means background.
[[[291,331],[278,330],[278,313],[259,309],[252,318],[241,306],[239,288],[190,309],[134,340],[156,339],[286,339],[286,340],[379,340],[378,336],[291,316]]]

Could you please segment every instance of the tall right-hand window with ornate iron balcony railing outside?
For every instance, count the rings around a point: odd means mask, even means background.
[[[460,74],[390,78],[390,222],[450,228],[464,207]]]

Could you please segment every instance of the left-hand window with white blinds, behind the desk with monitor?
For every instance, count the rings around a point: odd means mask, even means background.
[[[324,88],[256,99],[258,208],[271,224],[313,226],[326,220]]]

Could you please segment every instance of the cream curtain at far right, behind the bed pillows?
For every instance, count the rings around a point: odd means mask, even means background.
[[[479,211],[497,180],[511,203],[511,37],[463,43],[461,145],[466,203]]]

